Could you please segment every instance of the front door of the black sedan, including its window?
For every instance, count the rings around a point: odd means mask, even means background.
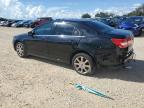
[[[53,34],[53,23],[46,23],[33,30],[31,39],[27,41],[28,52],[32,55],[47,57],[47,36]]]

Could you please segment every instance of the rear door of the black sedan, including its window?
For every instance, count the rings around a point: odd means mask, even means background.
[[[68,62],[71,53],[82,38],[78,28],[70,23],[55,22],[54,35],[47,37],[48,56],[61,62]]]

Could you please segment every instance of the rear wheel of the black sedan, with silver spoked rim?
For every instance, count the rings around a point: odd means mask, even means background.
[[[72,59],[74,70],[81,75],[94,74],[95,65],[92,58],[85,53],[78,53]]]

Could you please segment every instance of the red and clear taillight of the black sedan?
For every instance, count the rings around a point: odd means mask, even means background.
[[[124,39],[112,38],[111,40],[119,48],[127,48],[128,46],[133,45],[134,42],[133,38],[124,38]]]

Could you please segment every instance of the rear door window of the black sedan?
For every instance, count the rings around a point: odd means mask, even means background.
[[[68,23],[56,23],[55,33],[56,35],[74,35],[80,36],[81,33],[77,27]]]

